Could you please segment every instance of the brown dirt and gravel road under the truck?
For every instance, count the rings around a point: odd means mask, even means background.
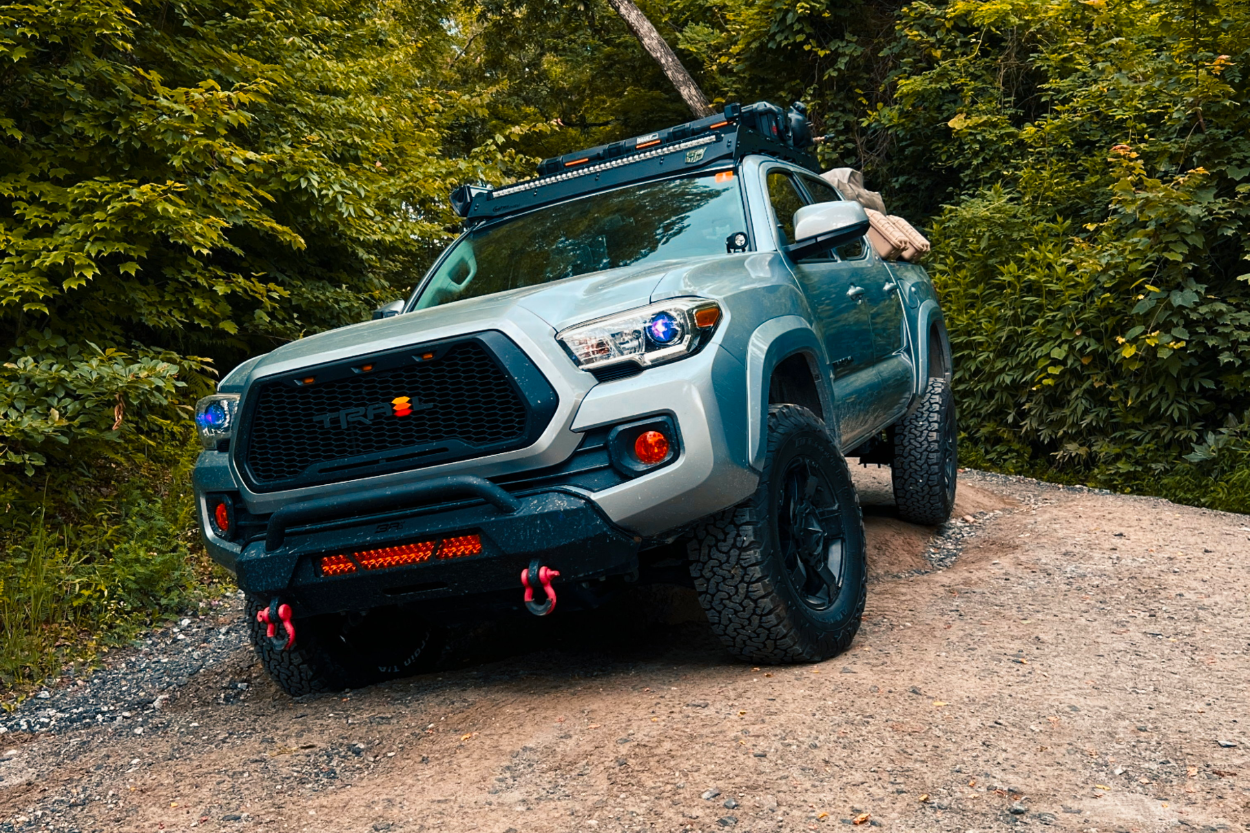
[[[1250,829],[1250,518],[965,473],[932,538],[871,475],[830,662],[674,593],[292,702],[226,605],[6,718],[0,830]]]

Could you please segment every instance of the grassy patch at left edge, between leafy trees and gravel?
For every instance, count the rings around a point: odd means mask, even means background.
[[[135,473],[90,514],[5,519],[0,688],[20,695],[225,588],[199,544],[190,465]]]

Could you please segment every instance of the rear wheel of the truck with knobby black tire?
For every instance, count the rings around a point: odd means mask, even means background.
[[[899,517],[936,527],[955,510],[959,474],[955,400],[945,379],[930,379],[920,404],[894,430],[894,502]]]

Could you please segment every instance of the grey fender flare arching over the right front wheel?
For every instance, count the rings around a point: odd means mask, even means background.
[[[799,315],[782,315],[760,324],[746,346],[746,414],[748,460],[756,472],[764,470],[769,430],[769,380],[781,361],[795,354],[806,354],[812,365],[825,424],[839,443],[838,420],[834,418],[834,396],[829,388],[829,359],[825,346],[811,324]],[[839,443],[840,445],[840,443]]]

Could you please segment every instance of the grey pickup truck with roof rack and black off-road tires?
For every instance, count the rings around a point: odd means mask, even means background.
[[[950,348],[924,269],[878,256],[810,145],[800,106],[730,105],[460,188],[406,301],[199,403],[204,540],[279,685],[411,673],[449,623],[628,583],[692,585],[752,663],[850,644],[846,458],[948,519]]]

